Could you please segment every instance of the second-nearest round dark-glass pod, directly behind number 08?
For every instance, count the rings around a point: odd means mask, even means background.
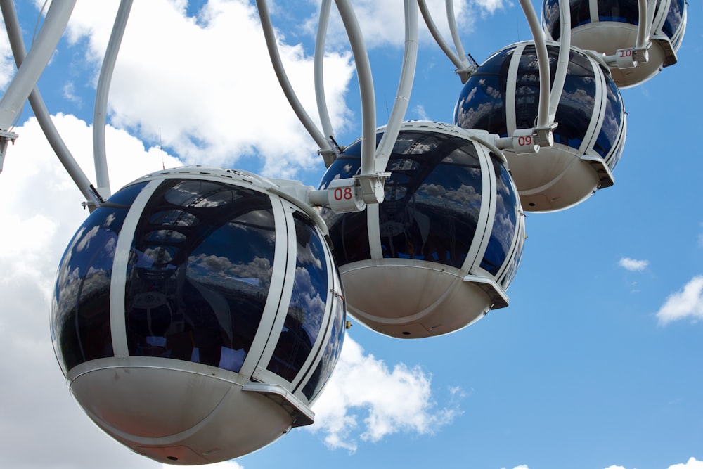
[[[508,305],[524,220],[502,153],[480,143],[479,134],[405,122],[387,162],[392,175],[383,202],[364,212],[321,210],[347,311],[359,322],[396,338],[424,338]],[[320,188],[354,176],[360,155],[356,141]]]

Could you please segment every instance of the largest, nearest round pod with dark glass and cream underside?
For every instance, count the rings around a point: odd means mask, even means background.
[[[65,251],[58,362],[88,416],[137,453],[225,461],[312,423],[342,347],[343,292],[324,222],[278,184],[150,174]]]

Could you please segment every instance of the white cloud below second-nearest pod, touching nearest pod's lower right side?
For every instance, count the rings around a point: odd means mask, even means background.
[[[419,367],[390,369],[349,336],[335,373],[314,404],[315,423],[331,448],[356,450],[357,440],[378,442],[397,432],[432,434],[460,414],[432,397],[432,379]],[[458,394],[456,390],[452,395]],[[359,418],[363,419],[361,423]]]

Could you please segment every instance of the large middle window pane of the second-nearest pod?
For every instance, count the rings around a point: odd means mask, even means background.
[[[415,142],[415,151],[394,151],[391,161],[413,158],[417,169],[396,171],[386,181],[388,200],[379,214],[383,255],[460,268],[481,208],[481,169],[473,143],[430,132],[403,136]],[[394,197],[398,193],[402,197]]]

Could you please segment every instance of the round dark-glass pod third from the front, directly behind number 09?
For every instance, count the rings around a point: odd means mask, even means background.
[[[552,77],[558,44],[548,44]],[[534,43],[512,44],[489,57],[464,85],[453,122],[466,129],[512,136],[534,127],[539,75]],[[626,119],[620,91],[588,53],[572,48],[557,106],[555,143],[538,153],[504,150],[526,212],[576,205],[599,188],[612,186],[612,169],[625,143]]]

